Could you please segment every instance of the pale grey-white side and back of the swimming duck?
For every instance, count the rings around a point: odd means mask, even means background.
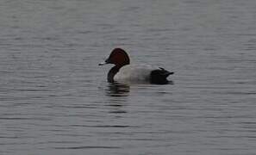
[[[150,73],[159,68],[151,65],[124,65],[115,75],[115,81],[149,81]]]

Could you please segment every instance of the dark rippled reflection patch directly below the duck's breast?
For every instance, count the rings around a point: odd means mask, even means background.
[[[108,96],[128,96],[130,87],[127,84],[109,83]]]

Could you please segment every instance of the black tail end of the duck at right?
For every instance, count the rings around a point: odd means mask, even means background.
[[[152,84],[168,84],[168,80],[166,78],[173,73],[174,72],[166,71],[164,68],[159,67],[159,70],[151,71],[150,83],[152,83]]]

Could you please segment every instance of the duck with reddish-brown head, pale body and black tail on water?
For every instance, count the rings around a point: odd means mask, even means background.
[[[149,82],[150,84],[168,84],[167,77],[174,72],[152,65],[131,65],[128,53],[122,48],[115,48],[109,58],[98,65],[113,64],[107,80],[114,82]]]

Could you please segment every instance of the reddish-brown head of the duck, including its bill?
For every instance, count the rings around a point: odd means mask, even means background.
[[[115,48],[103,63],[99,65],[114,64],[116,66],[122,67],[123,65],[129,65],[130,59],[128,53],[126,53],[122,48]]]

